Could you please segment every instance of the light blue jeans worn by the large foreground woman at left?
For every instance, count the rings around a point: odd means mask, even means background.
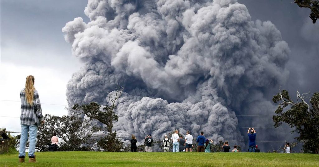
[[[21,138],[20,138],[20,148],[19,148],[19,157],[26,156],[26,141],[28,140],[28,133],[29,133],[29,157],[34,157],[35,152],[35,143],[37,140],[37,132],[38,126],[34,125],[25,125],[21,124]]]

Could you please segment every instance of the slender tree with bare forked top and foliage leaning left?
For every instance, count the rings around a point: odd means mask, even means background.
[[[86,115],[90,119],[95,119],[106,125],[106,129],[101,129],[106,131],[107,136],[100,139],[98,146],[103,148],[105,151],[120,151],[122,150],[123,142],[119,140],[116,135],[116,131],[113,132],[113,122],[118,121],[118,116],[115,114],[115,101],[119,99],[122,95],[124,87],[121,87],[117,84],[115,88],[116,92],[114,94],[108,93],[108,99],[111,102],[111,105],[106,105],[102,107],[96,102],[91,102],[90,104],[74,104],[71,108],[71,112],[75,115]],[[121,146],[121,148],[120,148]]]

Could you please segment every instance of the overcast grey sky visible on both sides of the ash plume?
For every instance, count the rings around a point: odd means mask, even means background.
[[[290,1],[239,0],[252,20],[270,20],[288,43],[290,71],[283,89],[294,96],[319,90],[319,22],[312,24],[310,11]],[[0,128],[20,131],[19,92],[27,75],[35,77],[42,112],[66,115],[66,84],[81,63],[72,56],[71,46],[61,31],[65,23],[82,17],[85,0],[1,0],[0,1]],[[271,99],[276,92],[269,92]],[[6,101],[3,101],[6,100]],[[57,105],[49,105],[57,104]],[[11,116],[11,117],[3,117]],[[18,117],[18,118],[16,118]]]

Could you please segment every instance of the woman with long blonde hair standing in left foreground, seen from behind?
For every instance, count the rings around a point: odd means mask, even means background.
[[[29,75],[26,77],[26,87],[20,92],[21,98],[21,138],[19,148],[19,162],[24,162],[26,156],[26,141],[29,134],[29,162],[35,160],[35,143],[37,138],[38,127],[44,123],[41,104],[38,91],[34,88],[34,77]]]

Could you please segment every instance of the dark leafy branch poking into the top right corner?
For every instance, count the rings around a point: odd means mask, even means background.
[[[297,3],[300,8],[309,8],[311,10],[309,17],[313,24],[319,19],[319,0],[295,0],[293,3]]]

